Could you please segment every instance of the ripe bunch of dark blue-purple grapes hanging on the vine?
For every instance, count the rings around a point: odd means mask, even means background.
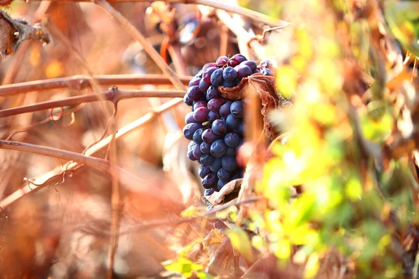
[[[189,82],[184,103],[192,109],[185,116],[183,134],[191,140],[188,158],[201,164],[199,175],[205,195],[243,177],[244,169],[236,162],[236,153],[243,144],[243,100],[221,97],[219,86],[237,86],[254,73],[274,76],[269,61],[257,65],[242,54],[230,59],[220,56],[215,63],[205,64]]]

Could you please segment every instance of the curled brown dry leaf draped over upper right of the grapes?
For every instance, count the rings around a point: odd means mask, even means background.
[[[263,106],[261,113],[263,115],[265,133],[268,138],[272,137],[272,139],[276,137],[277,131],[272,125],[268,114],[271,110],[277,109],[277,107],[288,107],[291,105],[291,102],[283,98],[275,89],[275,82],[275,77],[256,73],[250,77],[245,77],[242,82],[235,87],[228,88],[219,86],[221,96],[229,100],[240,100],[253,94],[257,94]]]

